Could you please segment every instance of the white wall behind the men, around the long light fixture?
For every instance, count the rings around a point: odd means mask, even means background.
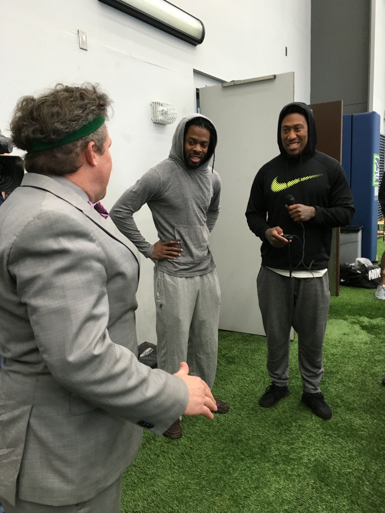
[[[174,4],[202,19],[202,45],[191,46],[97,0],[0,0],[0,128],[7,133],[11,111],[24,94],[57,82],[99,82],[114,100],[108,122],[113,171],[103,202],[107,208],[167,157],[176,124],[154,125],[150,102],[175,104],[177,122],[193,112],[194,68],[223,80],[294,71],[296,100],[310,101],[310,0]],[[87,33],[88,51],[79,48],[78,29]],[[136,221],[155,242],[146,206]],[[155,342],[153,266],[142,261],[138,340]]]

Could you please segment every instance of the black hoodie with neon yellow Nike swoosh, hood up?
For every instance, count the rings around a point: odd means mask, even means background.
[[[288,155],[283,148],[281,124],[287,109],[301,107],[306,114],[308,139],[299,155]],[[315,207],[314,219],[303,223],[305,250],[300,270],[325,269],[330,259],[332,228],[347,226],[353,217],[353,196],[345,172],[338,161],[316,151],[317,131],[312,110],[304,103],[294,102],[281,110],[278,120],[280,155],[258,171],[246,210],[249,228],[262,240],[262,265],[289,269],[288,245],[273,247],[266,239],[268,228],[279,226],[284,233],[297,235],[291,243],[292,268],[302,259],[303,230],[290,217],[285,196],[292,194],[295,203]],[[267,220],[266,220],[267,215]]]

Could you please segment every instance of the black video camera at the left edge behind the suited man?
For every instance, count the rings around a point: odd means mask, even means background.
[[[12,192],[23,180],[23,159],[19,156],[4,155],[11,153],[13,144],[0,130],[0,191]]]

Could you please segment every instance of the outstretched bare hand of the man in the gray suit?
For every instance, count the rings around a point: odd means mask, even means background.
[[[174,374],[181,378],[188,387],[188,404],[184,415],[204,415],[207,419],[213,419],[213,411],[217,411],[217,405],[211,390],[206,383],[197,376],[188,376],[188,365],[182,362],[178,372]]]

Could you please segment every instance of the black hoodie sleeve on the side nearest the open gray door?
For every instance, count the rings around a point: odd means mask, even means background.
[[[261,170],[258,171],[254,179],[250,198],[246,209],[246,219],[248,227],[253,233],[261,239],[265,240],[265,232],[270,228],[266,222],[267,206],[263,195],[263,177]]]

